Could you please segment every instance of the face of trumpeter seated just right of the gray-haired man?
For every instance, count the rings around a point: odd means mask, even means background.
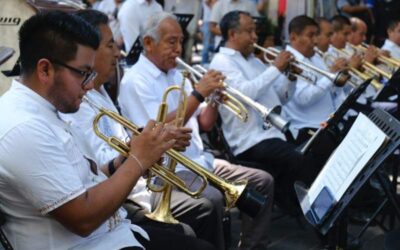
[[[254,51],[253,44],[257,42],[256,24],[247,15],[240,15],[239,27],[232,33],[229,42],[244,56],[247,57]]]

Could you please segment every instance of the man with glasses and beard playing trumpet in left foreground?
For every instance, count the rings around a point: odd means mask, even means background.
[[[83,19],[41,13],[19,32],[22,76],[0,98],[0,207],[16,249],[212,249],[201,240],[138,227],[121,205],[146,170],[175,144],[148,122],[109,176],[79,130],[59,118],[93,87],[99,33]],[[150,153],[151,152],[151,153]],[[172,239],[172,240],[171,240]]]

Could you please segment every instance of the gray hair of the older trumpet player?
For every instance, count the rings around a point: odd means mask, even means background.
[[[143,32],[140,36],[142,44],[144,44],[144,38],[147,36],[151,37],[156,43],[159,43],[161,39],[159,32],[160,24],[162,23],[162,21],[168,18],[177,21],[176,17],[173,14],[165,11],[156,12],[151,15],[149,19],[147,19],[147,21],[145,22]]]

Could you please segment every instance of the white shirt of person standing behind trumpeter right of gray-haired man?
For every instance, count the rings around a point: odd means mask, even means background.
[[[211,9],[210,22],[216,23],[219,26],[219,22],[228,12],[240,10],[249,12],[252,16],[259,16],[257,11],[257,5],[249,0],[218,0]],[[221,41],[221,36],[215,36],[215,46]]]

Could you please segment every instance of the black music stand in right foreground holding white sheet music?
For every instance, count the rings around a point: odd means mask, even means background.
[[[378,151],[375,156],[365,165],[360,174],[354,179],[342,198],[327,212],[320,221],[316,221],[308,214],[309,211],[303,211],[307,221],[314,226],[321,234],[334,232],[333,244],[345,249],[347,244],[347,207],[354,196],[364,186],[373,174],[378,170],[382,163],[399,147],[400,145],[400,123],[390,114],[380,109],[374,110],[368,118],[374,122],[390,139],[387,144]],[[394,206],[397,215],[400,218],[400,206],[397,198],[394,196],[390,187],[385,185],[382,176],[378,175],[378,180],[387,195],[387,198]],[[307,190],[301,183],[295,183],[295,190],[299,201],[307,194]]]

